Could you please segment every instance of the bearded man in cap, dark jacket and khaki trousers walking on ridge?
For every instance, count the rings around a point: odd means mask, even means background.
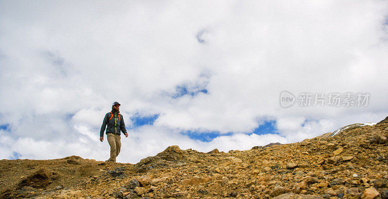
[[[112,111],[107,113],[102,122],[100,130],[100,141],[104,140],[104,131],[106,128],[106,136],[108,143],[111,146],[111,157],[106,162],[116,162],[116,157],[120,153],[121,141],[120,131],[122,131],[125,137],[128,137],[127,129],[125,129],[123,115],[120,114],[120,104],[113,102]]]

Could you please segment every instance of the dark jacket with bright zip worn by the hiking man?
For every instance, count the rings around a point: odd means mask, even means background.
[[[111,113],[113,113],[113,117]],[[127,129],[125,129],[123,115],[119,113],[112,111],[105,114],[104,121],[102,122],[102,125],[101,125],[100,137],[104,136],[106,125],[108,125],[108,127],[106,128],[106,134],[114,133],[114,134],[120,135],[120,131],[122,131],[124,134],[127,133]]]

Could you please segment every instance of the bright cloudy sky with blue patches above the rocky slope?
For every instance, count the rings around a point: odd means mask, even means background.
[[[386,0],[0,0],[0,159],[108,159],[114,101],[118,162],[297,142],[387,117],[387,77]]]

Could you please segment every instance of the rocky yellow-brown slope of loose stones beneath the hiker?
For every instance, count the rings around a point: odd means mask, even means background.
[[[388,198],[388,117],[334,137],[201,153],[170,146],[139,163],[78,156],[1,160],[0,198]]]

